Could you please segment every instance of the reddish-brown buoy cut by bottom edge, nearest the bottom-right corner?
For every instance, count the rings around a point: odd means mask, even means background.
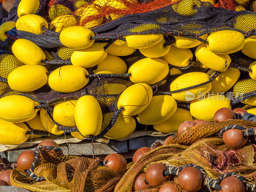
[[[220,182],[221,192],[244,192],[244,183],[237,177],[229,176]]]

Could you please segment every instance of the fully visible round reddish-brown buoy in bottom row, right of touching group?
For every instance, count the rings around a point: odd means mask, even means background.
[[[178,183],[188,192],[196,192],[202,188],[203,174],[195,167],[185,167],[180,171]]]

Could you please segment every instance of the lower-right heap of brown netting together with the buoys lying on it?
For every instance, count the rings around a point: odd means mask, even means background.
[[[239,120],[190,127],[164,146],[156,142],[158,147],[133,164],[115,191],[255,191],[255,120],[247,113]],[[241,133],[246,141],[227,142],[230,132]],[[231,148],[232,142],[241,145]]]

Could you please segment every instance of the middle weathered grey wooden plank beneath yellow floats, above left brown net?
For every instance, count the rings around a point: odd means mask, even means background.
[[[105,155],[127,151],[127,141],[110,141],[107,144],[100,142],[92,144],[91,141],[68,143],[68,155]]]

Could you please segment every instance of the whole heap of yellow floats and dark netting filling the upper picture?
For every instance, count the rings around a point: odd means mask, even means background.
[[[120,139],[135,118],[173,133],[193,117],[213,121],[221,107],[256,105],[254,12],[198,0],[22,0],[9,15],[0,27],[2,144],[64,133]]]

